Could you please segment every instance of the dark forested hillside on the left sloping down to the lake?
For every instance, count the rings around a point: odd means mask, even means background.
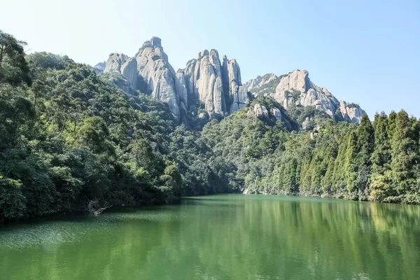
[[[0,32],[0,221],[231,191],[233,167],[166,104]]]

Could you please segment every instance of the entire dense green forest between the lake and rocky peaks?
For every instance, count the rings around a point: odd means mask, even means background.
[[[0,31],[0,221],[231,192],[420,203],[420,122],[405,111],[352,125],[259,98],[190,130],[166,104],[24,46]],[[256,103],[285,118],[250,116]]]

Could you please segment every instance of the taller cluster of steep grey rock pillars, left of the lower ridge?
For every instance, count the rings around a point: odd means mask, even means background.
[[[150,94],[167,103],[172,114],[186,124],[188,118],[198,115],[200,104],[211,118],[235,112],[249,102],[235,59],[223,56],[222,64],[217,50],[203,50],[185,69],[175,72],[158,37],[146,41],[134,57],[111,53],[106,64],[99,63],[94,69],[123,74],[132,88],[121,81],[118,85],[127,94],[133,90]]]

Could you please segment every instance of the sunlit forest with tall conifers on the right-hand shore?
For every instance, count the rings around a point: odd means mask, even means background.
[[[314,110],[289,113],[303,120]],[[363,116],[360,125],[309,119],[314,130],[287,132],[238,112],[204,127],[203,137],[235,162],[247,193],[420,203],[419,120],[405,111],[377,114],[373,123]]]

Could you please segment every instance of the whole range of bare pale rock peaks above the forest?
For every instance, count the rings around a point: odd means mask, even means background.
[[[186,125],[197,118],[205,123],[227,116],[261,96],[272,97],[286,110],[314,106],[336,121],[360,123],[365,114],[357,104],[339,101],[325,87],[312,83],[305,70],[282,76],[269,73],[242,84],[237,60],[224,55],[221,62],[217,50],[202,50],[175,72],[158,37],[146,41],[133,57],[111,53],[105,65],[99,63],[94,69],[122,74],[125,81],[114,80],[127,94],[139,90],[167,103],[176,119]]]

